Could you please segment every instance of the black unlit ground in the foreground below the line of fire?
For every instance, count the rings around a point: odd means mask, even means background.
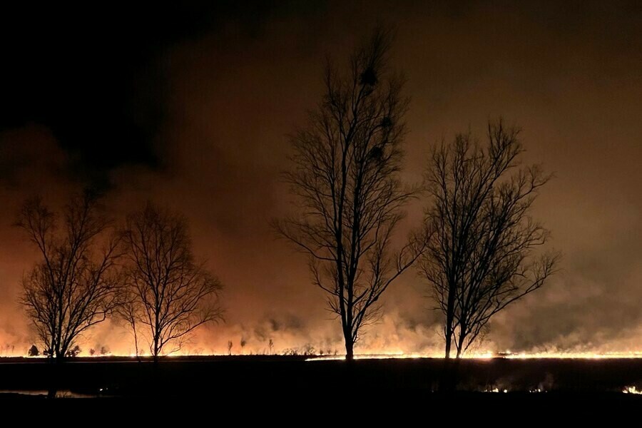
[[[112,427],[410,427],[444,417],[455,426],[551,420],[571,426],[609,420],[612,426],[637,420],[642,409],[642,395],[622,392],[641,389],[642,360],[498,358],[449,368],[438,359],[350,365],[305,357],[174,357],[156,367],[118,357],[78,358],[60,367],[46,360],[0,361],[0,410],[38,425],[66,415],[78,424]],[[46,398],[51,384],[63,398]],[[492,389],[507,392],[484,392]],[[536,389],[542,392],[529,392]]]

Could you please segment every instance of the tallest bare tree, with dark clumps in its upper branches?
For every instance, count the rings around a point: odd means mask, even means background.
[[[422,251],[412,239],[391,253],[401,208],[414,195],[399,179],[407,98],[403,79],[388,69],[391,41],[378,28],[347,72],[327,64],[323,100],[291,137],[285,180],[300,210],[277,223],[310,256],[315,285],[341,320],[348,360],[360,329],[378,320],[382,293]]]

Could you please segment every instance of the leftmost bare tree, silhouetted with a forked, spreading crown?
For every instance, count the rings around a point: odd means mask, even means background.
[[[106,320],[117,302],[118,240],[105,236],[108,220],[98,214],[97,203],[90,192],[78,195],[58,221],[34,198],[24,203],[16,222],[40,253],[22,280],[20,302],[44,353],[58,361],[75,349],[81,333]]]

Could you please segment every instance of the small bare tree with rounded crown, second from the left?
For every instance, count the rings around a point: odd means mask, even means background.
[[[161,352],[180,350],[195,328],[223,319],[218,301],[222,286],[202,263],[195,263],[183,216],[147,203],[127,216],[123,240],[130,297],[121,312],[133,329],[146,330],[155,362]]]

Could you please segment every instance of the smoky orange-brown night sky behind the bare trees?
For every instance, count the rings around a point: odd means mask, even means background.
[[[408,180],[434,143],[469,128],[483,137],[498,116],[523,128],[526,161],[556,175],[535,214],[562,270],[499,315],[483,349],[642,350],[639,2],[192,3],[0,11],[0,346],[34,339],[16,302],[36,260],[11,227],[19,204],[36,192],[60,203],[91,183],[116,218],[147,198],[188,216],[228,309],[193,350],[233,340],[240,351],[241,337],[245,352],[270,337],[277,350],[340,350],[305,258],[268,222],[289,209],[287,134],[320,101],[325,56],[345,61],[382,20],[397,27],[392,65],[412,97]],[[409,206],[408,224],[425,203]],[[425,294],[414,272],[402,276],[361,350],[438,350]],[[81,347],[97,345],[133,350],[108,324]]]

